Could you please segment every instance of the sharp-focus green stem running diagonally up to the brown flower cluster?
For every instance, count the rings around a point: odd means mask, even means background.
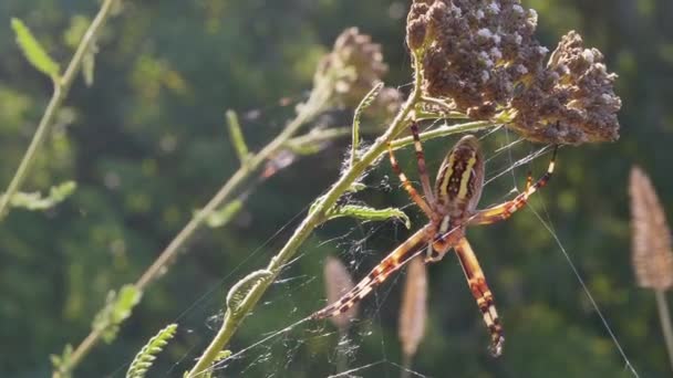
[[[373,165],[379,157],[385,153],[387,144],[400,134],[406,126],[408,117],[414,109],[421,95],[421,73],[415,70],[414,90],[404,103],[400,113],[395,116],[387,130],[379,137],[374,144],[360,157],[360,159],[351,165],[348,170],[339,178],[339,180],[332,186],[332,188],[320,199],[312,210],[308,213],[301,224],[294,230],[294,233],[288,240],[286,245],[276,254],[269,262],[267,270],[271,271],[273,275],[269,279],[255,286],[246,296],[246,300],[238,307],[238,316],[227,316],[222,322],[221,328],[215,336],[210,346],[206,349],[206,353],[201,355],[197,364],[189,371],[187,377],[197,377],[198,375],[210,368],[215,359],[214,354],[210,353],[213,349],[221,350],[231,339],[236,329],[241,325],[245,317],[251,313],[257,302],[261,298],[262,294],[273,283],[275,279],[280,274],[282,266],[287,264],[297,253],[297,250],[307,241],[313,230],[323,221],[327,210],[331,209],[336,200],[351,187],[351,185],[359,179],[366,169]],[[453,133],[462,133],[473,130],[475,128],[483,128],[483,123],[469,123],[464,125],[451,126]]]

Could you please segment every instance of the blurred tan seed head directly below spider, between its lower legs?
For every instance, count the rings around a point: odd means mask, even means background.
[[[408,264],[406,283],[400,309],[398,336],[405,356],[416,354],[425,332],[427,318],[427,274],[423,258],[414,258]]]

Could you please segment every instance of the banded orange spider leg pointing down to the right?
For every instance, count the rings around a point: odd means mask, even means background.
[[[455,245],[455,251],[460,261],[460,265],[463,266],[465,277],[467,279],[469,291],[477,301],[477,306],[479,306],[484,323],[486,323],[488,332],[490,333],[490,353],[494,357],[498,357],[503,353],[505,337],[503,336],[503,325],[500,324],[500,318],[496,311],[493,294],[486,284],[484,271],[482,271],[479,261],[466,238],[458,241],[458,244]]]

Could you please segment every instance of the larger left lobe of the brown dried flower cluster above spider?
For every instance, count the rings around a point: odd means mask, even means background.
[[[541,67],[537,15],[518,1],[416,1],[408,22],[407,43],[424,46],[424,92],[448,98],[456,111],[493,117],[515,84]],[[414,30],[424,30],[423,39]]]

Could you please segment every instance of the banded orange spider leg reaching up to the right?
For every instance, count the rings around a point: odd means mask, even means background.
[[[549,181],[549,179],[551,179],[551,176],[553,175],[553,167],[555,167],[555,162],[556,162],[557,149],[558,149],[558,147],[553,148],[553,155],[551,156],[551,161],[549,161],[549,167],[547,168],[547,172],[545,172],[545,175],[542,177],[540,177],[539,180],[537,180],[535,183],[531,185],[532,178],[529,174],[528,179],[526,181],[526,191],[524,191],[522,193],[518,195],[517,197],[515,197],[514,199],[511,199],[507,202],[500,203],[500,204],[495,206],[489,209],[477,211],[477,213],[472,218],[472,220],[468,222],[468,224],[469,225],[490,224],[490,223],[499,222],[501,220],[506,220],[507,218],[511,217],[511,214],[514,214],[517,210],[525,207],[526,203],[528,203],[528,198],[530,196],[532,196],[532,193],[538,191],[538,189],[545,187],[547,185],[547,182]]]

